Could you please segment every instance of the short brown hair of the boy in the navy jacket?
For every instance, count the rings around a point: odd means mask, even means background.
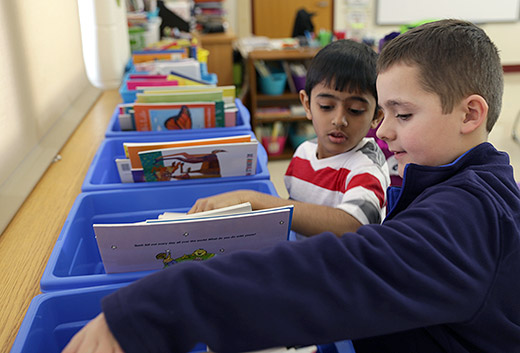
[[[421,85],[440,97],[444,114],[471,94],[482,96],[491,131],[502,108],[504,78],[498,50],[481,28],[453,19],[416,27],[383,48],[377,72],[397,63],[419,68]]]

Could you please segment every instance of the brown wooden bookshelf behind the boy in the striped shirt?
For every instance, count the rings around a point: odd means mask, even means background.
[[[254,62],[255,60],[263,61],[288,61],[288,62],[301,62],[310,60],[319,51],[320,48],[291,48],[291,49],[255,49],[247,54],[246,66],[247,74],[249,78],[248,90],[250,95],[250,113],[251,113],[251,127],[256,130],[263,124],[274,123],[277,121],[281,122],[298,122],[306,121],[305,116],[292,116],[287,114],[281,114],[281,116],[269,116],[261,117],[258,114],[259,108],[271,108],[271,107],[289,107],[290,105],[299,104],[300,99],[297,93],[291,93],[286,90],[279,95],[267,95],[262,94],[258,89],[258,80],[256,75],[256,69]],[[256,132],[256,131],[255,131]],[[269,159],[287,159],[291,158],[293,149],[290,143],[285,144],[285,150],[283,153],[277,156],[269,156]]]

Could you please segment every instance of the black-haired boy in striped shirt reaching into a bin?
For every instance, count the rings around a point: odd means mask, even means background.
[[[351,40],[335,41],[311,61],[300,100],[316,131],[302,143],[285,175],[289,200],[238,190],[198,200],[190,213],[250,202],[253,209],[293,205],[297,238],[330,231],[340,236],[385,216],[390,178],[373,138],[377,107],[377,54]]]

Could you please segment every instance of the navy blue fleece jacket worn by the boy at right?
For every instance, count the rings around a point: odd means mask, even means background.
[[[519,276],[519,190],[508,156],[483,143],[408,165],[382,225],[180,263],[102,307],[126,353],[343,339],[358,353],[520,352]]]

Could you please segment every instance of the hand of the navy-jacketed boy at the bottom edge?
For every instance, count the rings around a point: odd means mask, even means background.
[[[124,353],[110,332],[103,313],[81,329],[62,353]]]

